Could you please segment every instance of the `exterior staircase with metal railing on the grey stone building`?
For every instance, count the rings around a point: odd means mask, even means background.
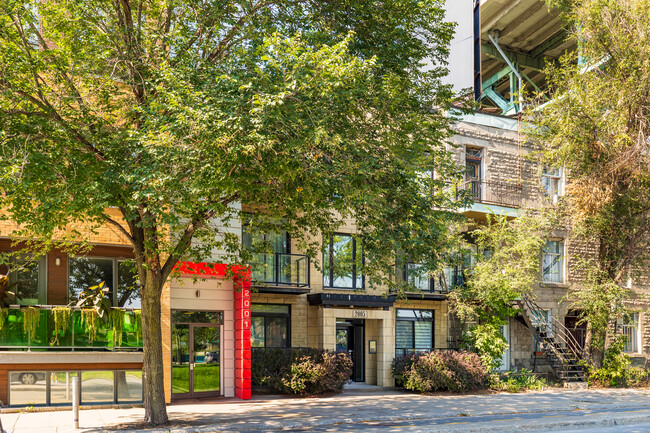
[[[580,363],[583,349],[564,324],[544,316],[543,309],[528,297],[522,296],[518,307],[556,378],[565,385],[586,383],[585,367]]]

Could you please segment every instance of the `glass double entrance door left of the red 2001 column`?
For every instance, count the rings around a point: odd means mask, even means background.
[[[190,323],[172,326],[172,398],[220,395],[220,313],[175,311],[173,318]]]

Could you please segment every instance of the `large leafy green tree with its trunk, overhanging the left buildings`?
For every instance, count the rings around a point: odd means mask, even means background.
[[[77,238],[69,223],[109,224],[132,244],[146,422],[167,421],[163,286],[214,248],[252,257],[218,229],[244,218],[237,203],[312,256],[354,218],[373,286],[393,284],[396,251],[398,265],[437,266],[461,202],[445,184],[461,173],[445,150],[441,6],[0,3],[2,217],[40,245]],[[427,59],[439,66],[423,71]]]

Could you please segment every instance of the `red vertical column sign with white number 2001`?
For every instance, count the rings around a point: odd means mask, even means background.
[[[251,398],[251,283],[235,278],[235,397]]]

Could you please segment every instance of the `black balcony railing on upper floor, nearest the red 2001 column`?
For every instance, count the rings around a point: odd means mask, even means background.
[[[303,254],[259,254],[251,264],[253,284],[309,286],[309,257]]]

